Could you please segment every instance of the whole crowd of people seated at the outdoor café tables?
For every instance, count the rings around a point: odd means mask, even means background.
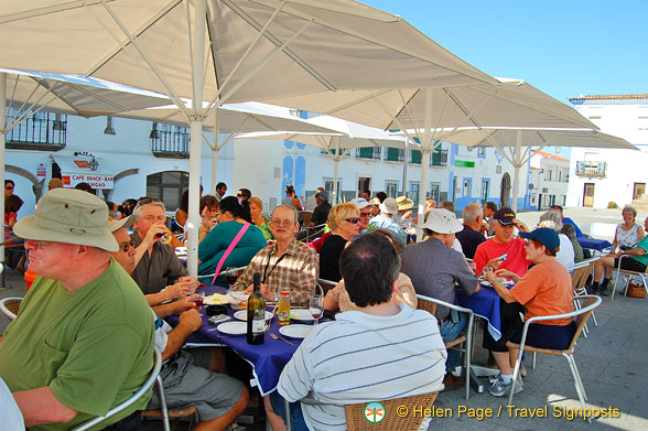
[[[184,344],[203,322],[193,294],[199,282],[223,285],[224,271],[241,267],[234,291],[251,292],[253,274],[260,273],[267,300],[289,291],[298,306],[309,304],[318,279],[337,283],[324,299],[324,308],[338,313],[335,321],[314,327],[281,373],[278,390],[263,397],[273,430],[283,429],[288,416],[294,430],[343,430],[339,405],[464,385],[454,375],[460,352],[446,352],[444,343],[465,331],[467,316],[445,306],[434,316],[417,310],[417,294],[454,303],[456,288],[475,294],[480,278],[501,298],[501,337],[485,331],[483,340],[500,371],[490,394],[501,397],[511,387],[517,392],[522,390],[521,379],[512,381],[517,352],[506,343],[520,338],[520,313],[528,319],[573,311],[569,270],[584,259],[576,240],[583,234],[560,206],[530,230],[511,208],[492,202],[484,208],[467,205],[460,223],[452,202],[429,200],[424,240],[415,243],[408,235],[418,223],[414,203],[385,193],[371,197],[366,191],[331,205],[324,190],[304,200],[289,185],[283,202],[263,215],[261,200],[248,188],[228,196],[219,183],[195,209],[185,193],[173,233],[158,200],[115,205],[87,190],[52,188],[33,215],[18,220],[18,204],[6,190],[11,229],[6,241],[24,240],[29,269],[40,277],[0,337],[0,389],[4,380],[24,425],[36,429],[71,429],[105,414],[147,379],[154,346],[164,360],[170,408],[195,406],[196,430],[233,423],[252,394],[247,363],[225,348]],[[192,211],[201,219],[198,279],[174,251]],[[300,240],[302,211],[312,213],[310,226],[326,225],[315,240]],[[614,241],[619,251],[596,265],[595,292],[606,289],[620,256],[631,257],[624,260],[630,269],[648,263],[648,239],[634,223],[636,212],[623,214]],[[515,287],[508,289],[503,279]],[[172,314],[180,316],[175,327],[164,321]],[[544,348],[565,348],[575,332],[570,319],[531,327],[528,343]],[[300,405],[306,396],[326,406]],[[138,429],[141,411],[158,408],[158,394],[149,392],[104,425]]]

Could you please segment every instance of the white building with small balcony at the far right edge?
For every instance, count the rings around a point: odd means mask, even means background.
[[[646,193],[648,182],[648,95],[581,96],[570,99],[602,132],[640,151],[573,148],[568,206],[623,207]]]

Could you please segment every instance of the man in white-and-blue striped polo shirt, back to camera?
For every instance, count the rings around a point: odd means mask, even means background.
[[[293,402],[294,430],[346,430],[343,405],[443,389],[446,352],[436,320],[393,298],[400,258],[391,243],[377,233],[360,236],[343,251],[339,269],[359,311],[314,326],[270,396],[282,418],[283,400]],[[322,405],[296,402],[309,392]]]

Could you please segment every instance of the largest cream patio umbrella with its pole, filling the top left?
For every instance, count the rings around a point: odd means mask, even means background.
[[[353,0],[4,0],[2,11],[0,66],[102,77],[173,100],[191,121],[191,206],[202,122],[218,105],[496,84],[399,17]],[[199,220],[192,213],[188,222],[195,274]]]

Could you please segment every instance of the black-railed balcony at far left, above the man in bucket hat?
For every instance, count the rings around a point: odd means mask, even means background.
[[[31,114],[28,111],[28,115]],[[22,117],[23,111],[9,109],[7,122]],[[40,111],[7,133],[7,148],[17,150],[58,151],[67,141],[67,116]]]

